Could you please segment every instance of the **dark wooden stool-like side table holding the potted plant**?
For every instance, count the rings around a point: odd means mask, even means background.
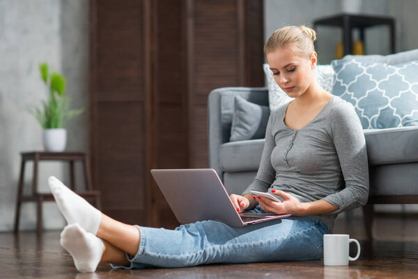
[[[54,196],[52,193],[38,193],[38,163],[41,160],[58,160],[58,161],[68,161],[70,163],[70,189],[75,191],[75,161],[82,161],[84,166],[84,177],[86,179],[86,191],[77,192],[78,195],[84,197],[88,202],[94,201],[95,206],[100,210],[100,191],[93,190],[91,185],[91,172],[90,164],[88,162],[88,154],[82,151],[73,151],[73,152],[45,152],[45,151],[32,151],[32,152],[22,152],[22,164],[20,165],[20,179],[17,185],[17,202],[16,202],[16,211],[15,211],[15,229],[14,232],[17,232],[19,229],[19,220],[20,220],[20,206],[22,202],[36,202],[38,207],[38,224],[37,232],[38,234],[42,233],[42,202],[45,201],[54,201]],[[23,195],[23,181],[24,181],[24,166],[26,161],[33,160],[33,178],[32,178],[32,194]]]

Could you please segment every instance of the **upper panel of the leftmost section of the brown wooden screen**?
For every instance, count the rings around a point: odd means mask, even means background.
[[[98,100],[142,100],[144,19],[142,1],[100,0],[97,5]]]

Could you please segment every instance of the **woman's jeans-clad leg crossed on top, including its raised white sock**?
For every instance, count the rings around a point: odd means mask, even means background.
[[[316,259],[322,252],[323,234],[329,233],[323,223],[310,217],[245,227],[204,221],[176,230],[135,228],[100,211],[98,215],[97,209],[57,181],[50,179],[49,185],[53,184],[52,193],[68,223],[80,223],[93,231],[92,236],[98,233],[104,241],[128,252],[132,255],[128,257],[130,268]]]

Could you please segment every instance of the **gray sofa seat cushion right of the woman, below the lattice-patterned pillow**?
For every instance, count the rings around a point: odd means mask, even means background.
[[[369,165],[418,162],[418,127],[363,130]]]

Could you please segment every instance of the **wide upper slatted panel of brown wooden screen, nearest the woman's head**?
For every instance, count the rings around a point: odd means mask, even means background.
[[[235,0],[194,3],[194,95],[237,86],[237,17]],[[190,70],[190,69],[189,69]]]

